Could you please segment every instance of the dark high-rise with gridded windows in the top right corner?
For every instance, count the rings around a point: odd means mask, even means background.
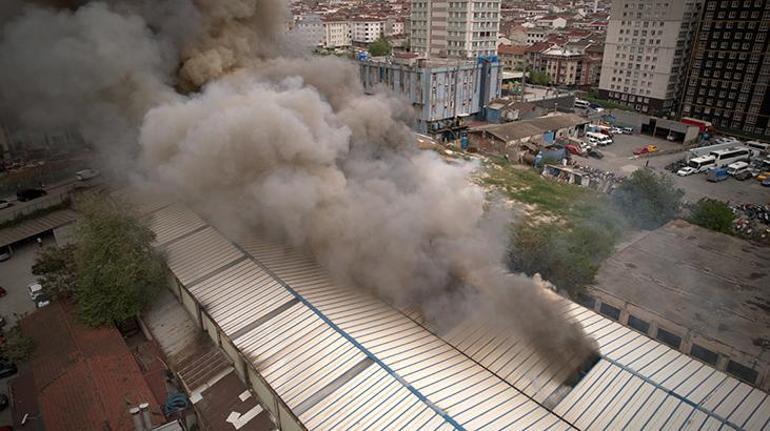
[[[769,26],[770,1],[704,2],[682,116],[770,136]]]

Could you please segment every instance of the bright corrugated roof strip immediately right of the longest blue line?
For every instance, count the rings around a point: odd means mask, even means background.
[[[403,313],[360,290],[334,284],[301,252],[257,237],[239,243],[463,427],[524,429],[560,422]]]

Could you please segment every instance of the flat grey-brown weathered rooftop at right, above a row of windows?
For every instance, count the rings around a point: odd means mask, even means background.
[[[676,220],[608,259],[591,289],[759,356],[758,339],[770,334],[768,286],[770,248]]]

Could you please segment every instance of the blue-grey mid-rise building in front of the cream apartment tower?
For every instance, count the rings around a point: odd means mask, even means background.
[[[364,60],[359,63],[367,92],[385,86],[407,97],[416,112],[414,128],[421,133],[453,131],[463,119],[482,112],[500,97],[502,65],[478,61],[411,59]]]

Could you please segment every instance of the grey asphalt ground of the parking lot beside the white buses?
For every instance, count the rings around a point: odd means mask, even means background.
[[[762,187],[759,181],[753,179],[738,181],[729,178],[726,181],[712,183],[706,181],[705,174],[679,177],[667,171],[666,165],[684,158],[684,151],[638,158],[633,155],[635,148],[648,144],[657,145],[659,151],[681,148],[682,144],[638,134],[616,135],[614,141],[612,145],[600,148],[604,154],[604,158],[601,160],[583,157],[575,157],[575,160],[581,165],[615,172],[621,176],[629,175],[641,167],[648,166],[674,178],[674,183],[684,190],[685,199],[690,202],[704,197],[728,201],[731,204],[767,203],[770,201],[770,188]]]

